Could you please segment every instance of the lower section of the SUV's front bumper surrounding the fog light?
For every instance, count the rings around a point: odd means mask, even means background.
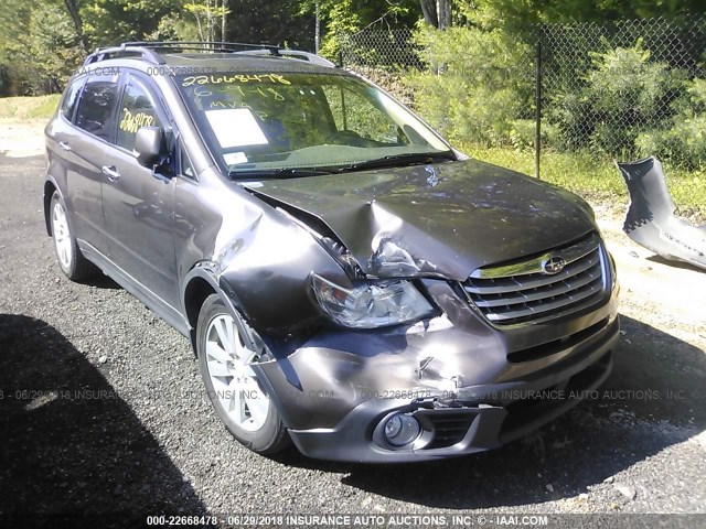
[[[618,338],[618,321],[612,327],[600,346],[578,364],[533,382],[482,388],[485,399],[481,400],[491,403],[461,400],[467,393],[480,396],[480,388],[411,402],[368,400],[335,428],[289,433],[303,454],[333,461],[402,463],[495,449],[565,413],[606,380],[612,368],[610,349]],[[382,424],[396,412],[410,413],[421,425],[422,433],[410,446],[397,449],[382,436]]]

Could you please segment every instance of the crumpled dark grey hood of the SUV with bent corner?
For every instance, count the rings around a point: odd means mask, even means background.
[[[475,160],[242,185],[321,219],[376,277],[462,281],[596,229],[578,196]]]

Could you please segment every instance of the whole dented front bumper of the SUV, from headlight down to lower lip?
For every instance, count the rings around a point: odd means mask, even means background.
[[[257,365],[258,378],[311,457],[414,462],[490,450],[555,419],[608,377],[617,293],[563,323],[500,331],[459,305],[446,307],[451,320],[425,325],[322,333]],[[418,422],[413,443],[387,442],[384,425],[395,413]]]

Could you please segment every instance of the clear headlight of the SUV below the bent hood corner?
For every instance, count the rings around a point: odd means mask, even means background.
[[[410,281],[360,281],[344,289],[315,273],[311,287],[323,312],[335,323],[375,328],[421,320],[434,306]]]

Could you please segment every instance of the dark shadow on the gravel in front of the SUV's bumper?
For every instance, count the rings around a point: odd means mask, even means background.
[[[413,465],[315,462],[288,465],[342,473],[342,483],[398,500],[449,509],[496,508],[574,497],[706,428],[704,353],[622,316],[611,376],[554,423],[499,450]],[[552,484],[554,492],[546,488]]]

